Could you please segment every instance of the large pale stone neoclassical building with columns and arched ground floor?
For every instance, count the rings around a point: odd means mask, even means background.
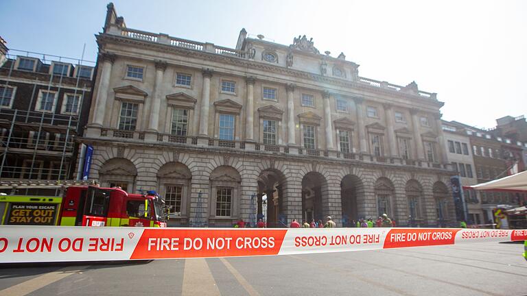
[[[360,77],[305,36],[242,29],[231,49],[130,29],[111,3],[97,42],[90,178],[158,190],[170,225],[454,222],[443,103],[414,82]]]

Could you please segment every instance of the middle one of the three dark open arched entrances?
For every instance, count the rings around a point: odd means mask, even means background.
[[[302,219],[324,221],[323,193],[327,192],[326,178],[317,172],[309,172],[302,179]]]

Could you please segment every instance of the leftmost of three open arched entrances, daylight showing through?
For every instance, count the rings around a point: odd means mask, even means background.
[[[266,169],[258,177],[257,220],[267,223],[267,227],[287,227],[287,221],[281,221],[283,213],[283,186],[285,176],[277,169]]]

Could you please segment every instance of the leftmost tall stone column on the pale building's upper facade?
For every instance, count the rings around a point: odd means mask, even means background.
[[[99,79],[99,88],[95,97],[95,108],[93,114],[93,123],[99,127],[103,126],[104,114],[106,112],[106,101],[108,99],[108,87],[110,86],[110,73],[112,64],[115,61],[115,55],[102,53],[99,57],[102,60],[101,78]]]

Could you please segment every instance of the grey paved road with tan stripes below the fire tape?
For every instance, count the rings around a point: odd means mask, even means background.
[[[1,266],[0,295],[527,295],[517,243]]]

